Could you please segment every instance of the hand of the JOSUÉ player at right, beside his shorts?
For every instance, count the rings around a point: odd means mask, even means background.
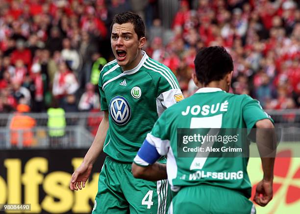
[[[253,198],[256,204],[264,207],[273,198],[273,181],[260,181],[256,186],[256,192]]]

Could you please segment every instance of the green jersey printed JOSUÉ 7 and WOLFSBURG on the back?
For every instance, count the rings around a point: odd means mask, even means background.
[[[219,88],[201,88],[193,96],[168,108],[147,135],[145,144],[154,146],[159,155],[167,155],[168,180],[173,191],[184,186],[209,184],[240,191],[249,198],[248,158],[198,158],[196,155],[178,158],[177,128],[251,129],[257,121],[266,118],[272,121],[258,101],[248,95],[234,95]],[[134,162],[148,165],[150,155],[143,154],[143,148],[144,145]]]

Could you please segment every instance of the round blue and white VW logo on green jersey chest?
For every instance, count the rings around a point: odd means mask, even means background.
[[[124,125],[130,119],[131,109],[124,97],[117,96],[111,99],[109,108],[109,114],[116,124]]]

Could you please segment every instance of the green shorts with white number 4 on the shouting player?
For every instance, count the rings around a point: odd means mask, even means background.
[[[168,181],[136,179],[131,163],[106,157],[92,214],[165,214],[171,202]]]

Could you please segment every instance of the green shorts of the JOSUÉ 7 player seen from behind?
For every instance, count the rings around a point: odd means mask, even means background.
[[[173,194],[168,214],[255,214],[255,207],[238,191],[198,185]]]

